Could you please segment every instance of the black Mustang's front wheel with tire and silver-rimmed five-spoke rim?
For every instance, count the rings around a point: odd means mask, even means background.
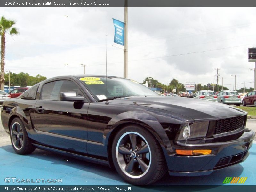
[[[134,137],[135,150],[131,141],[134,141]],[[158,141],[150,132],[137,125],[125,126],[116,134],[112,145],[112,158],[119,175],[133,185],[156,182],[167,172],[165,157]]]

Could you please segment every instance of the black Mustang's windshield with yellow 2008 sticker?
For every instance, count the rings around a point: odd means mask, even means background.
[[[106,82],[106,77],[83,77],[79,78],[79,80],[85,84],[98,100],[139,95],[158,95],[144,85],[130,79],[108,77]],[[108,87],[107,90],[106,87]]]

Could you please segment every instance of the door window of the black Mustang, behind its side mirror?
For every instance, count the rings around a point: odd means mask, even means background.
[[[81,95],[78,86],[69,80],[52,81],[43,85],[41,100],[60,100],[61,92],[74,91],[77,95]]]

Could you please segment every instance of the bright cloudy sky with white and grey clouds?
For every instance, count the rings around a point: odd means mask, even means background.
[[[124,20],[124,8],[0,8],[16,20],[18,36],[6,36],[6,68],[47,78],[105,74],[123,76],[123,50],[113,47],[112,18]],[[128,8],[128,78],[147,76],[167,84],[175,78],[207,84],[253,87],[248,47],[256,46],[255,8]],[[221,84],[221,79],[219,81]]]

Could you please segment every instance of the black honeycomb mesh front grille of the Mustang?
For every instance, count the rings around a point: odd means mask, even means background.
[[[245,116],[237,116],[216,120],[213,134],[235,131],[241,128],[244,125],[244,118]]]

